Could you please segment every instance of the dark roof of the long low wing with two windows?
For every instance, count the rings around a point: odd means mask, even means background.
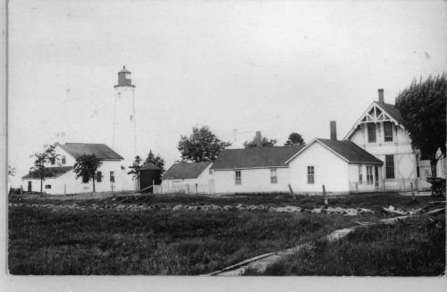
[[[211,169],[232,170],[243,168],[287,167],[289,158],[304,146],[272,146],[246,149],[224,149]]]

